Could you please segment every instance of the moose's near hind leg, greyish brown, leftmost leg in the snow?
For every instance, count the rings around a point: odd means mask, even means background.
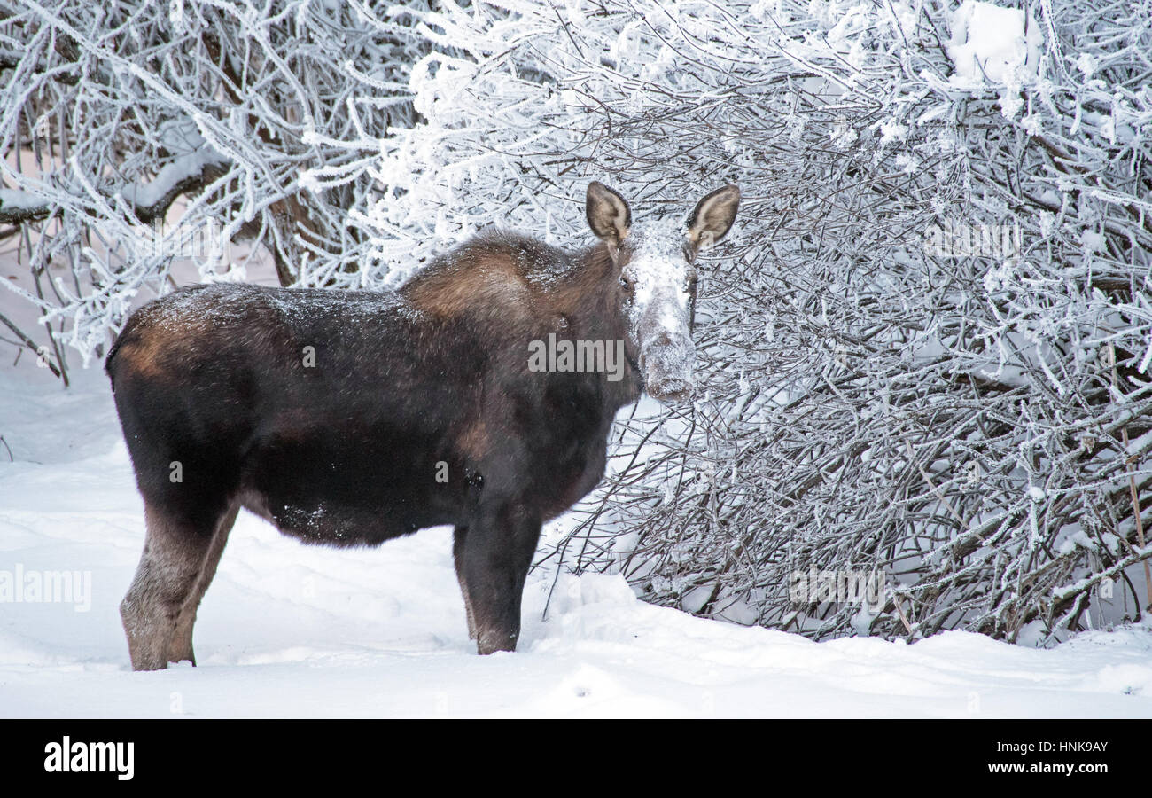
[[[181,611],[204,572],[217,524],[205,528],[147,502],[144,520],[144,551],[128,594],[120,602],[120,618],[128,635],[132,670],[161,670],[168,667]]]

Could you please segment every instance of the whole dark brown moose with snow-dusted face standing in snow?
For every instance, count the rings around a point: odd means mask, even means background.
[[[196,664],[241,507],[338,547],[452,525],[469,637],[515,650],[541,525],[604,476],[616,412],[691,396],[694,262],[738,204],[725,186],[634,225],[591,182],[598,241],[578,253],[482,232],[394,292],[214,283],[137,309],[105,364],[144,499],[120,605],[132,669]],[[530,370],[550,333],[623,341],[622,376]]]

